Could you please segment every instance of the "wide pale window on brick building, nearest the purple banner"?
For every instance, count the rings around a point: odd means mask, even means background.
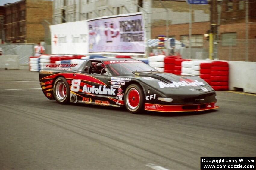
[[[180,41],[186,46],[189,46],[189,35],[181,35]],[[192,47],[203,46],[203,34],[191,35],[191,46]]]

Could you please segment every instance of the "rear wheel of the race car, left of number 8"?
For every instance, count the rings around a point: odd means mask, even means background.
[[[58,77],[53,85],[53,96],[60,104],[68,104],[70,101],[70,89],[64,77]]]

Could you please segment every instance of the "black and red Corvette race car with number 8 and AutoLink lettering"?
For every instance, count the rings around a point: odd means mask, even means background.
[[[129,112],[216,109],[216,93],[197,76],[174,75],[128,58],[97,58],[71,70],[45,69],[41,88],[60,104],[125,106]]]

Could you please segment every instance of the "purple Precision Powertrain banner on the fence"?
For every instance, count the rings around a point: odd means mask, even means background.
[[[89,54],[145,55],[142,13],[87,20]]]

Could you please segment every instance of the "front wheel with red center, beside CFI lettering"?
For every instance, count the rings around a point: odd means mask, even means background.
[[[139,114],[144,110],[144,94],[142,88],[137,84],[129,85],[124,93],[124,105],[133,114]]]

